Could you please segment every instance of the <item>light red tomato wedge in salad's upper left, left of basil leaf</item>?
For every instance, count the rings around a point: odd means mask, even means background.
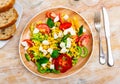
[[[50,28],[47,26],[47,24],[39,24],[36,26],[36,28],[39,29],[39,31],[43,34],[49,34]]]

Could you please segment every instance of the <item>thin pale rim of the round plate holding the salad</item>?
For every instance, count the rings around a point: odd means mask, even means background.
[[[30,69],[26,66],[26,64],[24,63],[24,61],[23,61],[23,59],[22,59],[21,52],[20,52],[20,46],[21,46],[21,42],[20,42],[20,41],[21,41],[21,39],[22,39],[22,35],[23,35],[23,33],[24,33],[27,25],[30,23],[30,21],[31,21],[32,19],[34,19],[36,16],[38,16],[40,13],[42,13],[42,12],[44,12],[44,11],[47,11],[47,10],[50,10],[50,9],[55,9],[55,8],[65,8],[65,9],[74,11],[74,12],[77,13],[79,16],[81,16],[81,18],[83,18],[83,20],[87,23],[87,25],[88,25],[88,27],[89,27],[89,29],[90,29],[91,36],[92,36],[92,47],[91,47],[92,51],[91,51],[91,53],[90,53],[90,57],[88,58],[87,62],[86,62],[80,69],[78,69],[77,71],[75,71],[75,72],[73,72],[72,74],[69,74],[69,75],[67,75],[67,76],[58,77],[58,78],[51,78],[51,77],[45,77],[45,76],[39,75],[39,74],[33,72],[32,70],[30,70]],[[56,7],[50,7],[50,8],[43,9],[42,11],[39,11],[38,13],[36,13],[36,14],[27,22],[27,24],[24,26],[24,29],[23,29],[23,31],[22,31],[22,33],[21,33],[20,40],[19,40],[19,56],[20,56],[20,60],[21,60],[22,64],[24,65],[24,67],[25,67],[29,72],[31,72],[32,74],[34,74],[34,75],[36,75],[36,76],[38,76],[38,77],[42,77],[42,78],[45,78],[45,79],[64,79],[64,78],[68,78],[68,77],[70,77],[70,76],[72,76],[72,75],[75,75],[76,73],[80,72],[80,71],[87,65],[87,63],[88,63],[89,60],[91,59],[91,56],[93,55],[93,50],[94,50],[94,37],[93,37],[93,31],[92,31],[91,28],[92,28],[92,27],[90,26],[90,24],[88,24],[88,21],[87,21],[79,12],[73,10],[72,8],[65,7],[65,6],[56,6]]]

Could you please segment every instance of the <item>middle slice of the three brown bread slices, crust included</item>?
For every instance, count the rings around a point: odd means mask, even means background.
[[[0,13],[0,29],[13,25],[18,18],[17,11],[14,8]]]

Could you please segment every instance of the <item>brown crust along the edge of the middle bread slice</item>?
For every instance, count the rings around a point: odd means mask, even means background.
[[[15,22],[17,21],[17,18],[18,18],[18,13],[17,13],[17,11],[14,9],[14,8],[12,8],[13,9],[13,19],[10,21],[10,22],[8,22],[8,23],[6,23],[6,24],[2,24],[1,26],[0,26],[0,29],[2,29],[2,28],[6,28],[6,27],[9,27],[9,26],[11,26],[11,25],[13,25],[13,24],[15,24]],[[10,9],[9,9],[10,10]],[[8,10],[8,11],[9,11]],[[2,12],[3,13],[3,12]],[[2,16],[0,16],[0,17],[2,17]]]

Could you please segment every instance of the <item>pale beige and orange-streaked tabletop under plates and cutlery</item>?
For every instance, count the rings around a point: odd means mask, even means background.
[[[17,0],[23,7],[23,15],[14,37],[0,49],[0,84],[119,84],[120,82],[120,0]],[[42,1],[42,3],[40,2]],[[75,75],[65,79],[50,80],[35,76],[22,64],[18,44],[26,23],[38,12],[56,6],[65,6],[79,12],[91,26],[94,36],[94,50],[86,66]],[[94,27],[94,13],[102,6],[110,16],[111,47],[114,66],[99,63],[98,34]],[[106,41],[102,28],[102,43],[106,53]]]

